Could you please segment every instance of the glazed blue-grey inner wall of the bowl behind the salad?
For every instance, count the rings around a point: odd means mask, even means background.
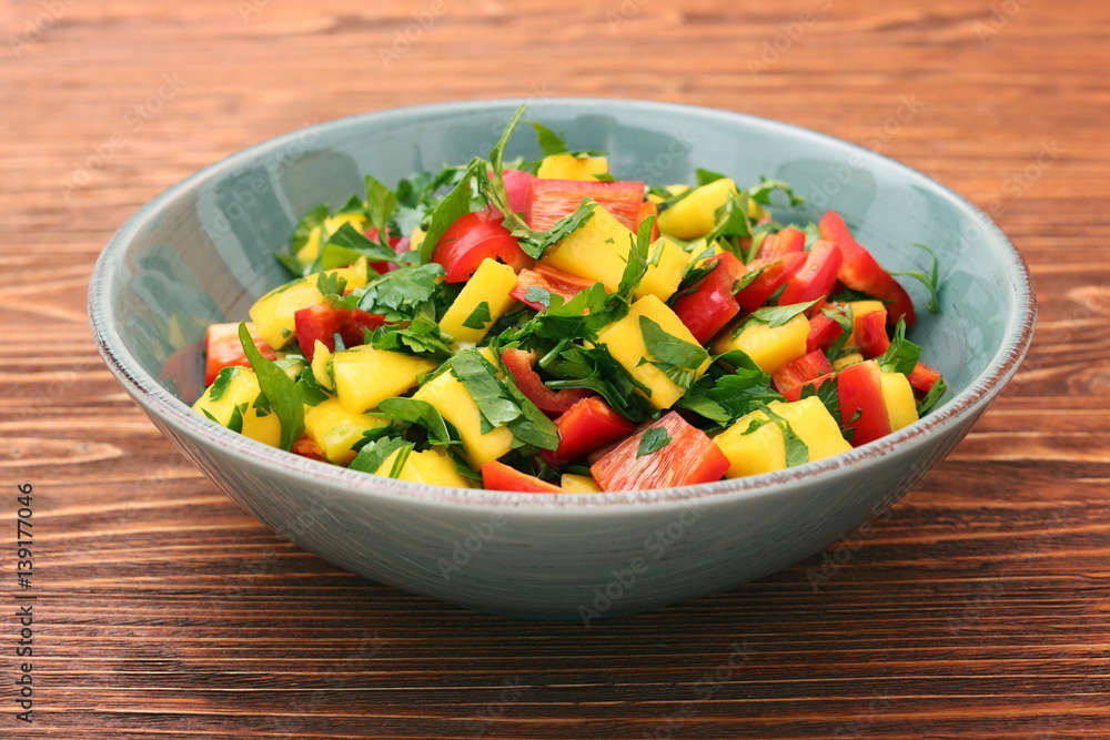
[[[289,278],[273,255],[287,249],[306,211],[362,192],[365,173],[393,185],[415,171],[487,156],[519,102],[344,119],[198,173],[140,211],[105,250],[93,305],[98,332],[132,376],[149,375],[192,402],[202,389],[205,327],[244,318],[259,295]],[[817,220],[835,209],[888,270],[928,272],[932,257],[912,244],[931,247],[940,311],[921,310],[910,338],[945,374],[948,404],[1002,367],[1028,328],[1028,275],[1006,237],[951,191],[896,162],[790,125],[662,103],[544,100],[528,118],[564,133],[572,148],[609,152],[620,179],[689,183],[705,166],[740,184],[785,180],[807,203],[779,209],[780,219]],[[538,156],[527,125],[508,146],[506,159],[514,156]],[[925,287],[901,280],[924,307]]]

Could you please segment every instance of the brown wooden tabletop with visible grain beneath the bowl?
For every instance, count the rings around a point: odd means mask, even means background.
[[[0,737],[1110,737],[1108,27],[1092,0],[3,0]],[[202,165],[361,111],[568,94],[865,143],[1029,261],[1015,388],[819,590],[814,558],[591,628],[407,596],[240,511],[97,356],[101,246]]]

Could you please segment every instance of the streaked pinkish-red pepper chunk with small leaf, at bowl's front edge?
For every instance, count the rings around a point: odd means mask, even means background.
[[[639,455],[639,443],[648,429],[664,429],[669,442]],[[728,458],[704,432],[677,412],[669,412],[606,452],[589,472],[602,490],[642,490],[719,480],[728,466]]]

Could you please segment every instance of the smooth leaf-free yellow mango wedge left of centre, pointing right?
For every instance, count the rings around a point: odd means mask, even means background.
[[[438,366],[434,359],[359,345],[332,355],[335,395],[343,408],[361,414],[415,387],[417,375]]]

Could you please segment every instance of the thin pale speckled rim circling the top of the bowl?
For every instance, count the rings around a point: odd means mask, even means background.
[[[771,496],[796,484],[825,480],[831,484],[842,476],[860,473],[860,467],[868,463],[874,463],[887,455],[904,454],[925,445],[931,437],[958,428],[968,417],[972,417],[973,420],[975,415],[1001,392],[1005,384],[1017,372],[1018,365],[1029,349],[1036,323],[1037,300],[1032,277],[1025,260],[1006,234],[982,210],[937,180],[858,144],[793,123],[700,105],[588,97],[545,99],[543,109],[565,107],[582,111],[587,107],[596,110],[615,107],[643,113],[665,110],[672,113],[696,114],[703,120],[717,119],[731,124],[740,123],[747,128],[763,129],[771,133],[786,132],[791,136],[816,141],[833,152],[840,151],[861,158],[864,165],[870,163],[872,168],[881,165],[890,169],[895,173],[901,174],[910,181],[924,183],[935,192],[955,201],[972,221],[977,222],[980,234],[989,237],[989,241],[993,243],[1003,266],[1007,268],[1008,276],[1013,282],[1016,301],[1006,316],[1007,326],[998,352],[991,357],[983,372],[967,388],[945,402],[940,408],[924,419],[881,439],[833,457],[773,473],[694,486],[574,496],[541,496],[526,491],[432,486],[370,476],[365,473],[304,458],[231,432],[196,414],[184,402],[167,392],[128,351],[118,327],[109,321],[112,313],[110,286],[114,283],[115,274],[122,263],[121,257],[128,245],[144,227],[159,217],[165,206],[183,193],[200,189],[203,184],[229,171],[234,171],[250,161],[264,159],[266,153],[287,146],[309,130],[314,130],[323,135],[346,128],[359,128],[367,121],[387,125],[391,119],[403,121],[432,115],[486,114],[501,110],[512,112],[518,105],[529,102],[532,101],[521,98],[502,98],[425,103],[340,118],[291,131],[240,150],[171,185],[141,206],[120,226],[109,240],[93,267],[89,287],[89,318],[93,337],[109,369],[148,414],[158,416],[169,426],[193,439],[203,439],[206,444],[224,447],[234,455],[291,476],[310,486],[310,489],[313,486],[321,488],[323,484],[329,484],[353,495],[385,496],[408,499],[412,503],[454,506],[464,509],[512,508],[514,510],[573,514],[575,511],[596,513],[599,508],[617,511],[624,509],[644,511],[645,506],[688,507],[728,498]]]

